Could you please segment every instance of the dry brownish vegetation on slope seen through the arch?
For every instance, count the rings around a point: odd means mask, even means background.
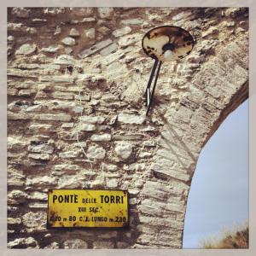
[[[201,242],[204,249],[236,249],[248,248],[249,246],[248,226],[236,228],[232,231],[224,231],[223,235],[210,237]]]

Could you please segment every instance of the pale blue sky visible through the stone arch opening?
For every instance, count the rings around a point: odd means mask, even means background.
[[[248,220],[248,101],[202,149],[189,191],[183,248]]]

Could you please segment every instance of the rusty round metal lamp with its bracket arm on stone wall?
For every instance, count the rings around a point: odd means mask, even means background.
[[[147,115],[153,100],[154,90],[163,61],[178,61],[189,55],[194,47],[194,39],[189,32],[178,26],[158,26],[143,37],[143,50],[154,59],[154,66],[146,89]],[[156,71],[157,69],[157,71]],[[156,71],[155,79],[154,73]],[[154,79],[152,92],[150,85]]]

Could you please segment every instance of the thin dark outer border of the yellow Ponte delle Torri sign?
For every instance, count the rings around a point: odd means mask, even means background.
[[[48,216],[49,216],[49,191],[50,190],[108,190],[108,191],[123,191],[127,193],[127,213],[128,213],[128,220],[127,220],[127,225],[125,225],[124,227],[53,227],[49,224],[48,221]],[[130,204],[129,204],[129,200],[130,200],[130,194],[128,189],[48,189],[47,191],[47,219],[46,219],[46,229],[47,230],[91,230],[91,229],[97,229],[97,230],[113,230],[113,229],[117,229],[117,230],[128,230],[130,229]]]

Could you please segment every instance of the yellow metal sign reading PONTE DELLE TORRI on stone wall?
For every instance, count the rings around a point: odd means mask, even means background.
[[[47,228],[123,228],[128,224],[125,190],[49,190]]]

